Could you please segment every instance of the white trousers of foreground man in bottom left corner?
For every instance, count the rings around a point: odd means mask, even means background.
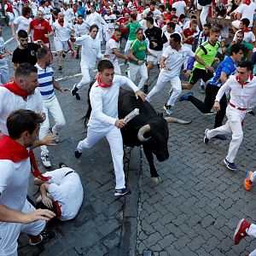
[[[26,200],[21,212],[34,212],[35,207]],[[44,230],[45,221],[38,220],[31,224],[0,222],[0,255],[13,256],[17,254],[18,238],[20,233],[38,236]]]

